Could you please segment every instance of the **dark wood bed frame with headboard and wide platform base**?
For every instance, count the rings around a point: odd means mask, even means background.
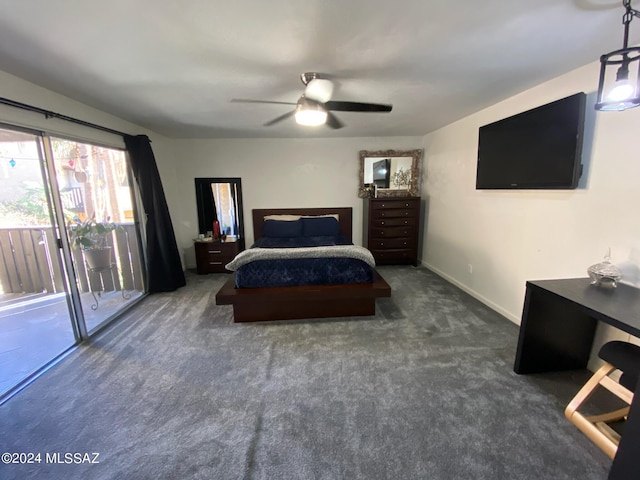
[[[254,238],[262,235],[266,215],[338,214],[343,235],[352,240],[352,209],[275,208],[253,210]],[[374,315],[376,298],[390,297],[391,287],[374,271],[373,283],[300,287],[236,288],[232,275],[216,294],[216,305],[233,305],[235,322]]]

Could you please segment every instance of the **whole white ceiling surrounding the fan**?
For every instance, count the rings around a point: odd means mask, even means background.
[[[0,69],[170,137],[424,135],[620,48],[623,13],[619,0],[0,0]],[[334,100],[393,111],[264,127],[292,107],[230,102],[296,102],[308,71],[334,80]]]

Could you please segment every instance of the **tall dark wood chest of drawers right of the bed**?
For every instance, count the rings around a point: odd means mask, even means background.
[[[419,197],[364,199],[364,246],[378,265],[418,265]]]

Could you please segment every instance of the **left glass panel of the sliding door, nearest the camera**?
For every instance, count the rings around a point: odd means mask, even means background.
[[[0,395],[78,338],[41,147],[0,129]]]

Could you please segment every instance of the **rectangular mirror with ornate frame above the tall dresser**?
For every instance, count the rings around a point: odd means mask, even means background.
[[[419,197],[422,149],[360,150],[358,196]]]

